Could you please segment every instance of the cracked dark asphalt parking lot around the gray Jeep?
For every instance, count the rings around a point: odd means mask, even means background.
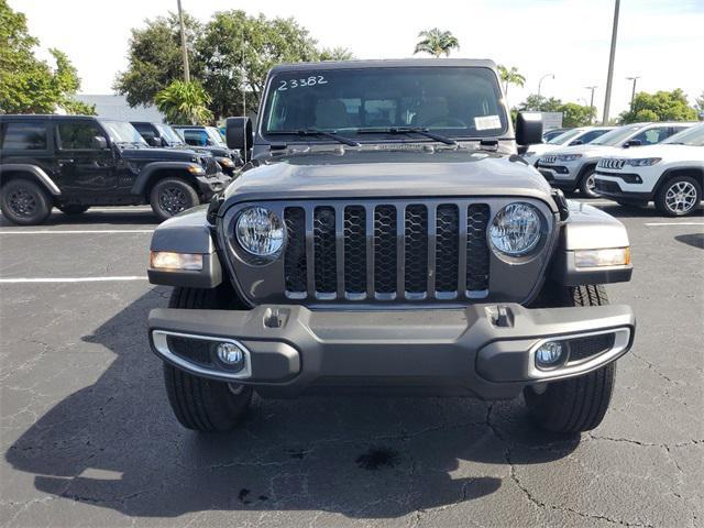
[[[0,525],[704,525],[704,218],[596,200],[627,226],[638,317],[603,425],[551,439],[521,402],[255,400],[176,422],[145,320],[146,209],[0,221]]]

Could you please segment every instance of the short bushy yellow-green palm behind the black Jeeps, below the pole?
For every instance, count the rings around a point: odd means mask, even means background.
[[[209,124],[212,121],[212,112],[208,109],[210,96],[197,81],[174,80],[154,99],[169,123]]]

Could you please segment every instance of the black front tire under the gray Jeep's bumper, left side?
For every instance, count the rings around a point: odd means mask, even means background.
[[[223,309],[217,289],[175,288],[169,308]],[[164,363],[164,382],[176,419],[187,429],[204,432],[231,431],[246,413],[252,388],[197,377]]]

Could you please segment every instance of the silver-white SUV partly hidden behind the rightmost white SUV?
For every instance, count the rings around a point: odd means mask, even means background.
[[[566,191],[579,189],[586,197],[594,190],[594,173],[601,157],[622,148],[653,145],[694,123],[634,123],[606,132],[586,145],[560,147],[538,158],[536,167],[553,187]]]

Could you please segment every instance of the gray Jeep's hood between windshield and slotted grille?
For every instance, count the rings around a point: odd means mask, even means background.
[[[470,151],[333,151],[271,157],[242,172],[231,202],[263,199],[524,196],[553,207],[550,186],[518,156]]]

